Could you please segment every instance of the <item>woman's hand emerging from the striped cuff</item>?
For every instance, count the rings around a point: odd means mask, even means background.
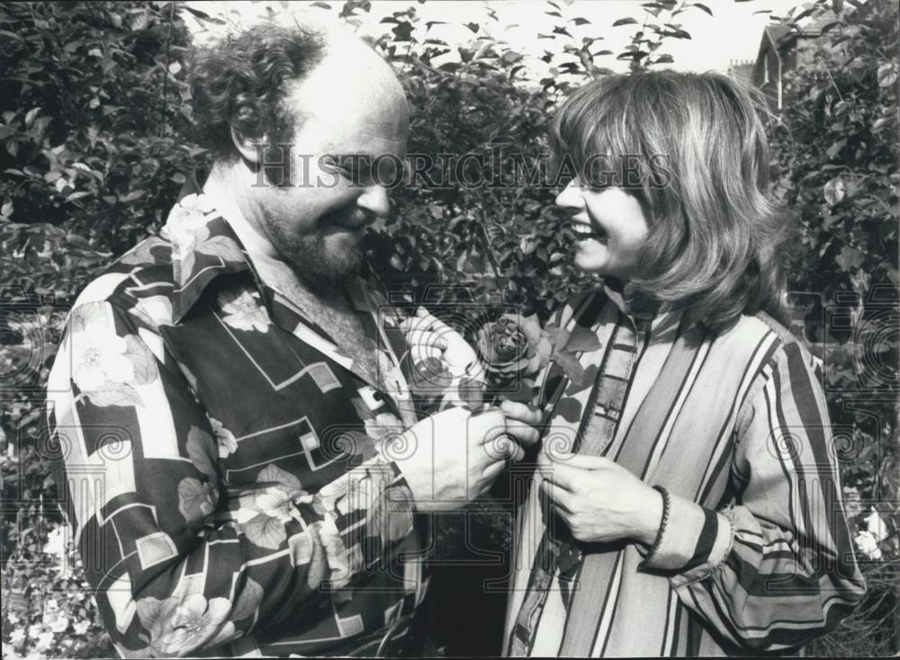
[[[626,468],[599,456],[571,454],[537,459],[541,493],[585,543],[621,539],[652,546],[662,524],[662,495]]]

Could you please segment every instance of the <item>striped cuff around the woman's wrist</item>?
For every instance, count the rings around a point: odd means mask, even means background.
[[[725,562],[734,542],[734,525],[724,513],[680,495],[670,494],[670,498],[669,523],[640,567],[679,571],[672,578],[672,585],[678,587],[702,579]]]

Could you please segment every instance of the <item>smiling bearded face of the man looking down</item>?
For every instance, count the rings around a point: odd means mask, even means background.
[[[409,126],[406,101],[393,86],[357,80],[356,94],[347,82],[347,91],[338,94],[343,98],[323,98],[317,87],[324,75],[317,69],[288,95],[298,118],[291,151],[273,149],[266,161],[290,158],[290,182],[275,185],[283,173],[269,168],[270,183],[255,199],[272,245],[304,281],[320,288],[336,287],[358,272],[365,227],[387,215],[384,183],[396,181],[379,164],[401,163]]]

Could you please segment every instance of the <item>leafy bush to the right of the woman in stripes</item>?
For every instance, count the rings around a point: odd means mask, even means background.
[[[806,339],[824,358],[835,449],[869,583],[860,610],[814,650],[884,656],[900,650],[900,17],[885,0],[851,3],[837,16],[831,5],[780,20],[799,31],[806,14],[823,34],[788,74],[774,131],[779,192],[799,214],[804,247],[795,289],[815,292],[800,297]]]

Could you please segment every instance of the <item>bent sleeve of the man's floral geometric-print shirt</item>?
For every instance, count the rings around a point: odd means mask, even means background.
[[[314,611],[410,534],[409,488],[374,451],[317,493],[275,464],[228,492],[210,418],[133,312],[76,307],[48,387],[68,521],[121,655],[197,655]]]

